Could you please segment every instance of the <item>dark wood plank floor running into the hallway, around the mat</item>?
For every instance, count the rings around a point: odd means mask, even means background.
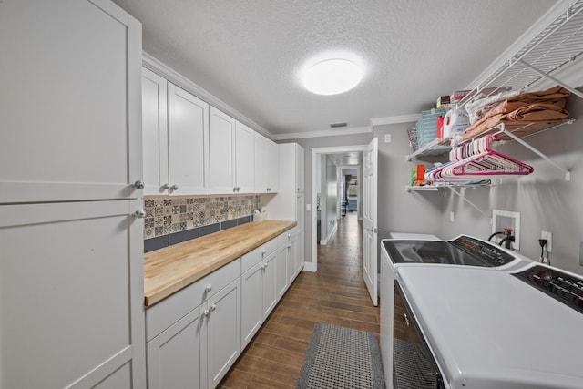
[[[327,246],[318,246],[318,271],[302,271],[221,388],[295,388],[316,322],[379,333],[379,309],[362,275],[362,230],[349,212]]]

